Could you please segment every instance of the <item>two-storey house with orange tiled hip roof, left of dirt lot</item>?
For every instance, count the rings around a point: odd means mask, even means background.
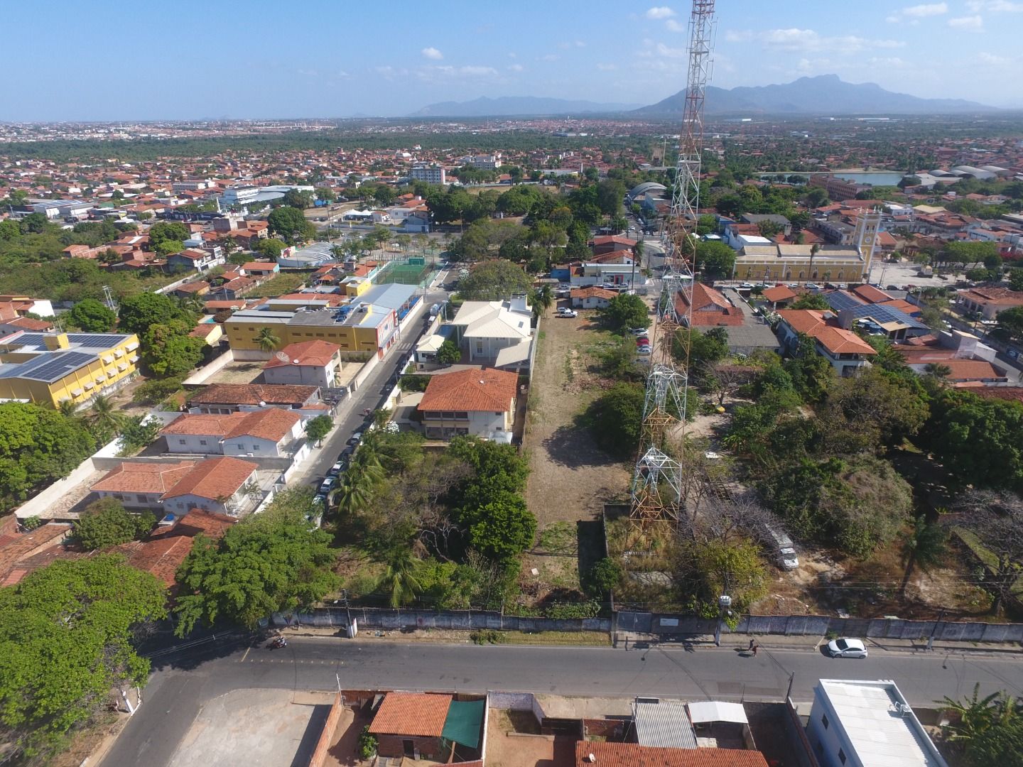
[[[510,443],[519,376],[494,368],[438,373],[418,404],[428,439],[474,435]]]

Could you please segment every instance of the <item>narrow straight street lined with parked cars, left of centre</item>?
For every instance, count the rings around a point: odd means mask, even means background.
[[[443,274],[443,272],[442,272]],[[403,335],[395,346],[391,347],[387,357],[373,369],[369,377],[354,394],[341,401],[338,412],[339,427],[317,452],[315,460],[306,469],[301,483],[319,485],[326,477],[327,470],[338,460],[338,454],[345,449],[349,438],[361,431],[367,424],[367,418],[362,413],[366,408],[377,409],[394,389],[395,376],[401,372],[413,347],[422,335],[422,318],[430,312],[430,307],[446,301],[447,291],[441,288],[429,288],[424,300],[415,309],[415,316],[406,326]]]

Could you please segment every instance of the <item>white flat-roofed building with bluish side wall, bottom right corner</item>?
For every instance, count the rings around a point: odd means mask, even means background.
[[[821,679],[806,734],[821,767],[947,767],[895,682]]]

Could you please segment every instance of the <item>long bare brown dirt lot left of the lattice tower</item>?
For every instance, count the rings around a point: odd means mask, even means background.
[[[609,457],[576,422],[610,386],[593,371],[594,348],[608,337],[593,319],[590,311],[579,312],[577,319],[548,312],[541,323],[523,439],[530,461],[526,501],[541,541],[523,559],[523,590],[535,601],[568,597],[579,585],[577,551],[545,545],[545,531],[597,518],[605,502],[628,492],[629,467]]]

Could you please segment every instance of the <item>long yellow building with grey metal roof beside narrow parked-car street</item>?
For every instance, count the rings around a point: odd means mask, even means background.
[[[321,340],[338,345],[343,358],[375,354],[383,359],[398,340],[401,321],[418,301],[415,285],[373,285],[338,309],[235,312],[224,322],[224,332],[234,359],[273,357],[259,342],[264,329],[278,340],[278,346]]]

